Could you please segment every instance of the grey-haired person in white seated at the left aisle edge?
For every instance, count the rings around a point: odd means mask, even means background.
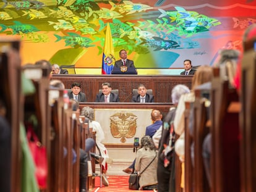
[[[97,149],[100,153],[100,156],[103,157],[103,161],[101,162],[102,165],[102,182],[103,185],[108,186],[108,179],[106,177],[106,172],[108,170],[108,164],[106,162],[106,160],[109,158],[108,157],[108,151],[105,148],[105,145],[102,143],[103,140],[105,140],[105,135],[104,135],[104,131],[101,128],[101,125],[99,122],[95,121],[95,116],[94,116],[94,109],[92,109],[91,107],[83,107],[82,111],[81,111],[81,115],[85,115],[85,117],[87,117],[89,119],[89,127],[93,128],[93,131],[96,131],[96,146]]]

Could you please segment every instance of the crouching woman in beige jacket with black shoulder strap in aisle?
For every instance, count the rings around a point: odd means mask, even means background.
[[[140,141],[140,149],[136,154],[135,171],[140,175],[139,190],[157,189],[157,158],[156,148],[150,136],[143,136]]]

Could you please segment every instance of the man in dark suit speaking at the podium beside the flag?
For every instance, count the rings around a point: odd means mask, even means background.
[[[134,66],[134,61],[127,59],[127,52],[125,49],[119,51],[119,59],[114,63],[112,74],[137,74],[137,69]],[[117,71],[117,72],[116,72]]]

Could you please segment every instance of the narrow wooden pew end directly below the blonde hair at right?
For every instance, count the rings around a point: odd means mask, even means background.
[[[208,90],[210,92],[210,90]],[[192,128],[192,135],[194,141],[194,191],[207,192],[210,191],[207,176],[203,167],[202,147],[203,140],[209,129],[206,127],[207,123],[207,99],[203,97],[204,90],[195,90],[195,102],[193,107],[194,123]],[[191,130],[190,130],[191,131]]]

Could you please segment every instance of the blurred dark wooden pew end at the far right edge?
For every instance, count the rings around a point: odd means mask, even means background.
[[[241,72],[241,192],[256,191],[255,38],[245,42]]]

